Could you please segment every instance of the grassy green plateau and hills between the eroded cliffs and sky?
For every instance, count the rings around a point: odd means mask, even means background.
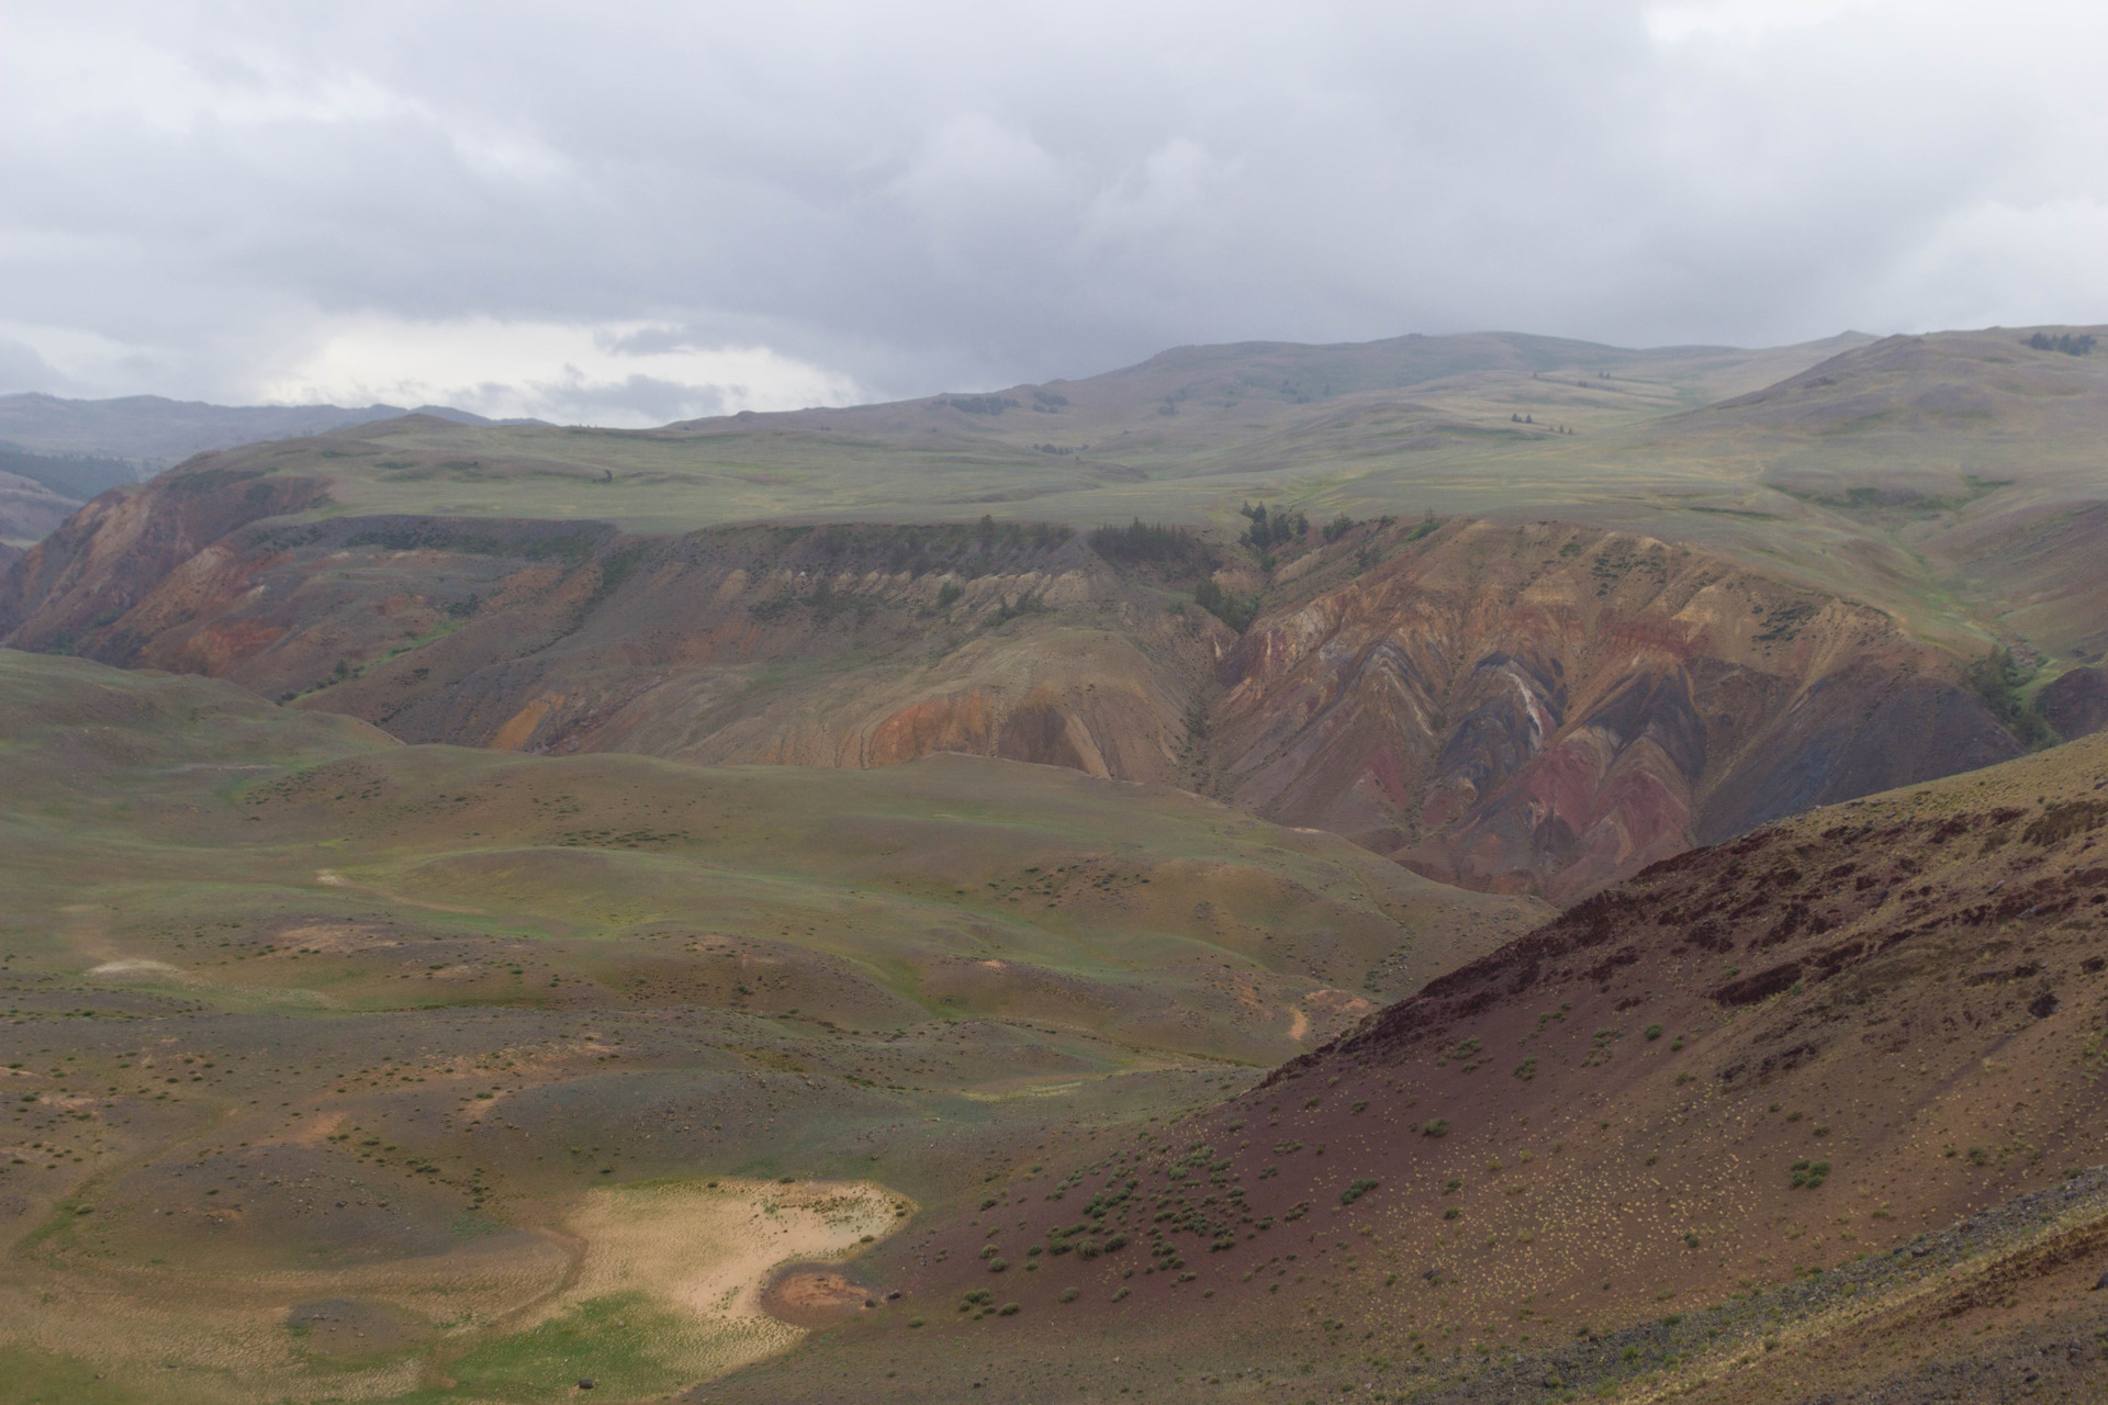
[[[1986,535],[2108,487],[2104,381],[2104,356],[2000,331],[1773,352],[1199,348],[978,398],[649,432],[407,419],[215,463],[325,478],[327,514],[643,533],[980,516],[1235,531],[1254,499],[1311,520],[1564,518],[1705,546],[1979,649],[2017,590]],[[2087,634],[2034,624],[2051,649]]]

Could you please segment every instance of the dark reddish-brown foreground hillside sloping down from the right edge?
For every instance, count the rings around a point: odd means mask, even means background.
[[[2097,737],[1661,864],[1216,1110],[991,1175],[845,1342],[997,1357],[991,1399],[1086,1340],[1098,1384],[1404,1390],[2055,1184],[2108,1161],[2104,826]]]

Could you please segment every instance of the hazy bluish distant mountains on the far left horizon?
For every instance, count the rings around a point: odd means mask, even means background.
[[[542,423],[485,419],[445,404],[204,404],[167,396],[63,400],[46,394],[0,396],[0,472],[42,482],[63,497],[89,499],[137,482],[207,449],[270,438],[304,438],[401,415],[455,423]]]

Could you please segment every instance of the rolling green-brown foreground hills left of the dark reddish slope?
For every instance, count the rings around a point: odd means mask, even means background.
[[[0,737],[6,1401],[658,1394],[788,1344],[708,1306],[788,1245],[1212,1100],[1543,912],[993,760],[409,748],[21,653]]]

